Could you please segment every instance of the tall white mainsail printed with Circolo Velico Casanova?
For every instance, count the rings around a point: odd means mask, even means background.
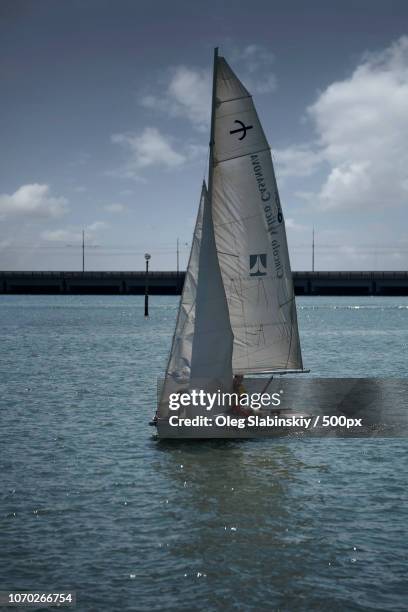
[[[285,223],[252,97],[218,58],[212,214],[235,373],[302,369]]]

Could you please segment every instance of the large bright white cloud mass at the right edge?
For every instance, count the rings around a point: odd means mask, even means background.
[[[351,77],[309,108],[331,170],[323,208],[387,209],[408,203],[408,37],[365,54]]]

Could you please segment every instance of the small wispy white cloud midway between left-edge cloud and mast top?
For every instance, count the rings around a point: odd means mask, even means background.
[[[140,170],[150,166],[175,168],[186,161],[186,157],[173,148],[171,139],[155,127],[146,127],[140,134],[114,134],[112,142],[121,145],[129,153],[129,159],[121,172],[128,178],[137,178]]]

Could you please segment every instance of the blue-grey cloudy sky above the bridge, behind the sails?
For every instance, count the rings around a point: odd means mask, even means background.
[[[0,269],[180,269],[213,48],[272,149],[292,269],[408,267],[406,0],[0,0]]]

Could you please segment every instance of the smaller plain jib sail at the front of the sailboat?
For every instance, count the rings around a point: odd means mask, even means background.
[[[193,388],[230,391],[233,337],[218,263],[205,183],[159,404],[168,415],[171,393]],[[202,408],[196,410],[202,413]],[[194,410],[189,409],[189,415]]]

